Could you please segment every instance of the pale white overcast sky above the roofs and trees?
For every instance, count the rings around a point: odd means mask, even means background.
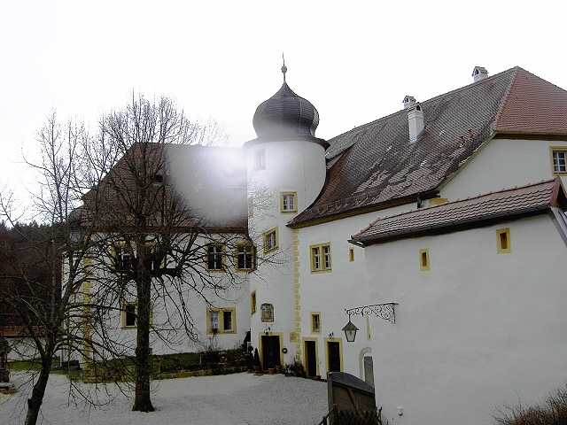
[[[282,83],[320,113],[319,137],[522,66],[567,88],[565,2],[0,0],[0,187],[33,176],[35,134],[56,109],[96,122],[132,90],[218,120],[239,145]]]

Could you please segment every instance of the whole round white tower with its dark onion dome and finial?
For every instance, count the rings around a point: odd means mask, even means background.
[[[262,102],[252,124],[257,138],[245,143],[248,234],[259,257],[250,274],[251,342],[264,368],[290,363],[301,350],[299,230],[287,223],[321,192],[326,177],[326,141],[315,136],[319,112],[285,81]]]

